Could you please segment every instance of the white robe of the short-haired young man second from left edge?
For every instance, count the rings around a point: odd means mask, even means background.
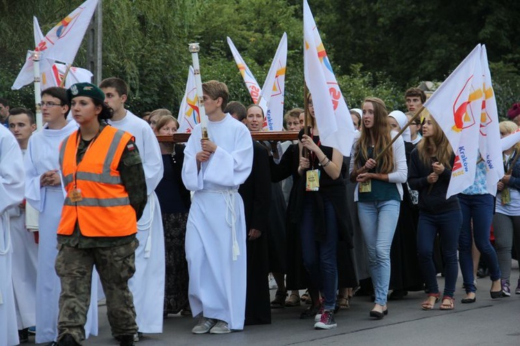
[[[22,150],[25,153],[25,150]],[[36,325],[36,273],[38,245],[33,232],[26,227],[25,209],[10,210],[12,241],[12,288],[18,329]]]

